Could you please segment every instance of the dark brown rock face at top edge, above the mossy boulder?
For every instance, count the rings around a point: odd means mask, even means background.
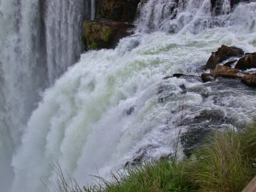
[[[97,0],[97,18],[133,22],[140,0]]]

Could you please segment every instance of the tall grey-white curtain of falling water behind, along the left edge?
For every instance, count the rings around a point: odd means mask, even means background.
[[[0,0],[0,191],[10,188],[12,154],[40,93],[83,51],[86,3]]]

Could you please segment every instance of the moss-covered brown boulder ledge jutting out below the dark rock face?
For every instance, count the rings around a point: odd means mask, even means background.
[[[121,38],[132,35],[134,25],[107,19],[84,22],[84,44],[92,49],[113,49]]]

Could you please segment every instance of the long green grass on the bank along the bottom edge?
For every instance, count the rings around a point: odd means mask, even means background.
[[[255,175],[255,156],[256,123],[253,123],[243,132],[214,132],[184,161],[161,159],[126,168],[125,172],[114,172],[111,182],[98,177],[99,182],[83,190],[74,181],[76,188],[67,188],[63,177],[58,184],[61,192],[241,191]]]

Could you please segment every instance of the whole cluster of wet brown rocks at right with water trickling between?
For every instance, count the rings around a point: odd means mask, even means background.
[[[202,74],[202,81],[214,81],[218,77],[241,79],[249,86],[256,86],[256,52],[245,53],[237,47],[221,45],[216,52],[212,52],[205,69],[211,72]],[[251,70],[251,71],[250,71]]]

